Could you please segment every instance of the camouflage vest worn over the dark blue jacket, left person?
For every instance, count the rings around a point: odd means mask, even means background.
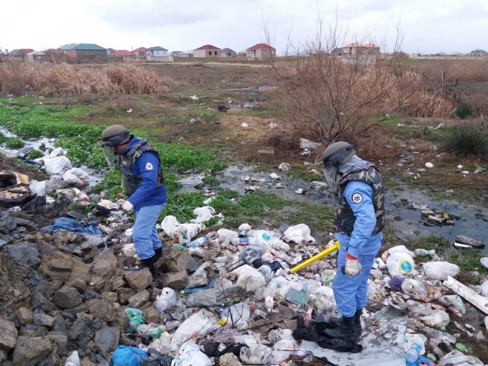
[[[126,154],[118,156],[117,160],[115,161],[115,167],[122,173],[122,190],[127,196],[134,193],[142,183],[142,177],[140,175],[132,174],[131,167],[132,164],[136,162],[136,159],[146,151],[152,151],[158,157],[159,172],[156,187],[159,188],[164,184],[163,170],[161,167],[161,160],[159,158],[158,150],[151,146],[146,140],[140,140],[139,142],[135,143]]]

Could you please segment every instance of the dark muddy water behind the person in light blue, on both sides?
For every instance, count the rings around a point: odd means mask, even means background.
[[[284,188],[276,188],[269,178],[272,171],[255,172],[252,166],[229,166],[222,172],[217,173],[222,188],[233,189],[244,194],[245,188],[250,185],[259,186],[267,193],[275,193],[285,199],[294,199],[314,204],[325,204],[334,207],[334,199],[327,191],[312,189],[310,183],[303,180],[288,177],[276,169],[274,172],[281,176],[276,181],[284,185]],[[257,180],[264,179],[264,183],[241,181],[241,176],[251,176]],[[297,194],[299,188],[305,193]],[[409,208],[410,203],[420,207],[427,205],[429,208],[442,209],[443,211],[457,217],[454,225],[427,226],[421,220],[419,208]],[[434,201],[427,197],[421,190],[392,190],[386,187],[386,217],[388,226],[400,232],[418,236],[439,235],[450,241],[454,241],[456,235],[465,235],[477,240],[488,241],[488,208],[486,205],[474,205],[468,203],[457,203],[455,201],[443,200]],[[485,220],[483,219],[485,218]],[[312,228],[313,230],[313,228]],[[485,247],[485,252],[488,248]]]

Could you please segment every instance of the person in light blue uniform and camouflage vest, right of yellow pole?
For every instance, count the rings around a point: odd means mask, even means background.
[[[325,180],[338,202],[334,236],[341,244],[332,288],[342,318],[332,322],[333,328],[326,329],[325,334],[355,341],[362,333],[361,313],[371,265],[383,240],[384,184],[380,171],[360,159],[347,142],[329,145],[322,161]]]

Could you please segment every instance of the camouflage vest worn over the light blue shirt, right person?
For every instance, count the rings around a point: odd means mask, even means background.
[[[359,165],[350,169],[337,184],[336,199],[339,203],[339,208],[336,210],[334,222],[337,232],[344,232],[347,235],[351,235],[354,229],[354,223],[356,222],[356,217],[351,206],[344,199],[344,189],[346,188],[347,182],[350,181],[365,182],[373,189],[372,201],[376,216],[373,234],[381,232],[385,225],[385,187],[380,171],[372,163]]]

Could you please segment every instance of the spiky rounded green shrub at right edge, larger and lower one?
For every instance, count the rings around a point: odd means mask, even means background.
[[[455,126],[446,136],[446,149],[463,155],[487,155],[488,131],[475,124]]]

